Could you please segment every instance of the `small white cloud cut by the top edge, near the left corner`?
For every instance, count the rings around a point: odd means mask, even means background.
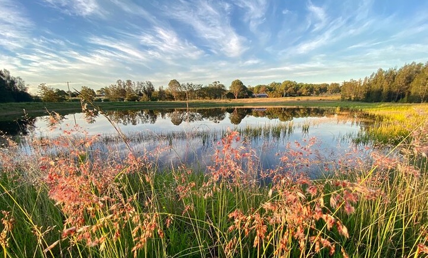
[[[77,16],[101,15],[102,9],[96,0],[44,0],[63,13]]]

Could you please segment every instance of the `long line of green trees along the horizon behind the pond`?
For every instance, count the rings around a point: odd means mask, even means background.
[[[219,81],[209,85],[192,82],[180,83],[171,80],[167,87],[157,90],[151,81],[132,81],[119,79],[110,86],[94,91],[83,86],[77,91],[54,89],[46,84],[38,86],[37,96],[27,92],[25,82],[13,77],[9,71],[0,70],[0,102],[22,101],[156,101],[249,98],[263,94],[265,97],[299,97],[324,94],[340,94],[342,100],[367,102],[426,102],[428,99],[428,62],[411,63],[401,68],[383,70],[379,68],[364,79],[344,81],[343,83],[297,83],[285,80],[282,83],[245,86],[236,79],[229,88]]]

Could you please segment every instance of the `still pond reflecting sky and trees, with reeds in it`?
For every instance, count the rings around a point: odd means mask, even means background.
[[[139,155],[151,154],[163,166],[185,164],[200,170],[212,164],[215,150],[221,148],[219,141],[229,131],[239,132],[241,139],[235,146],[251,153],[262,169],[298,163],[299,169],[318,174],[342,157],[367,156],[372,148],[356,140],[369,122],[349,110],[336,108],[126,110],[59,118],[54,128],[48,116],[32,118],[9,134],[23,135],[22,148],[29,152],[25,140],[29,137],[56,137],[64,129],[85,131],[100,135],[92,148],[106,155],[115,153],[115,157],[123,159],[127,144]],[[4,125],[10,128],[13,122],[0,126]],[[126,137],[126,144],[117,129]]]

